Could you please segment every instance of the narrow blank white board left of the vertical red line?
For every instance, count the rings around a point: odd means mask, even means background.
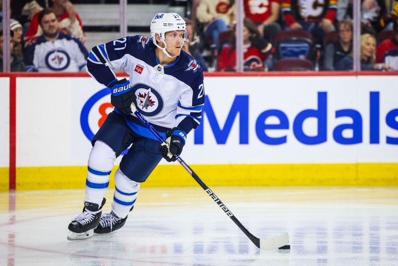
[[[0,167],[9,166],[9,78],[0,78]]]

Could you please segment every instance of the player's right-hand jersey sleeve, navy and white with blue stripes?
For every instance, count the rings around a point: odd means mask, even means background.
[[[177,115],[174,127],[180,127],[188,134],[196,129],[202,121],[202,109],[204,105],[203,73],[198,68],[198,73],[190,85],[180,97],[177,105]]]

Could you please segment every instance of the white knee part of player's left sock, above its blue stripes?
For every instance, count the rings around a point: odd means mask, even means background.
[[[111,171],[116,160],[116,153],[105,142],[97,140],[91,149],[89,167],[98,171]]]

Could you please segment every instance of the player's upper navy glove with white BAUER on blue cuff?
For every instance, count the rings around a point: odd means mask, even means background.
[[[130,81],[115,80],[108,84],[110,89],[110,103],[125,115],[131,114],[130,104],[135,100]]]

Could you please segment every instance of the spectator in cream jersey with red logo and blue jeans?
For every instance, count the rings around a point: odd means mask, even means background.
[[[204,24],[204,36],[212,38],[212,47],[218,47],[218,35],[228,30],[235,16],[235,0],[200,0],[197,18]]]

